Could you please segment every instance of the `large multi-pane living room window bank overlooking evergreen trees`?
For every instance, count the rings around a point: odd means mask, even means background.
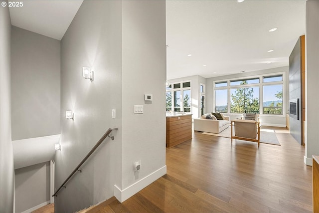
[[[215,112],[283,115],[284,76],[277,73],[214,82]]]

